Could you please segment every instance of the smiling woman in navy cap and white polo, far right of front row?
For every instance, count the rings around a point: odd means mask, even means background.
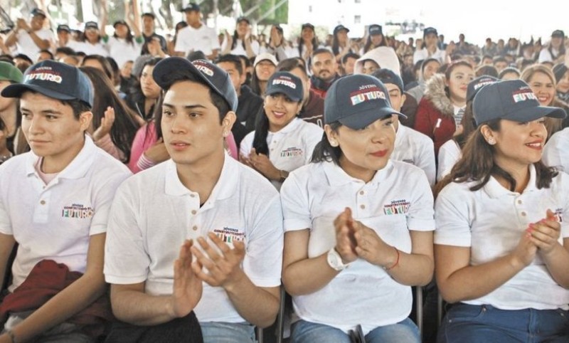
[[[452,304],[438,342],[569,342],[569,176],[541,162],[544,117],[522,80],[485,85],[475,130],[437,189],[435,271]]]

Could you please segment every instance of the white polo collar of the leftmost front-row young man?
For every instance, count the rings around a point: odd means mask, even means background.
[[[85,143],[83,148],[81,148],[79,154],[65,167],[62,171],[58,173],[57,179],[80,179],[87,171],[91,168],[95,155],[97,154],[97,146],[88,134],[85,134]],[[26,163],[26,174],[28,176],[36,174],[36,164],[38,163],[38,157],[33,152],[28,155],[28,162]]]

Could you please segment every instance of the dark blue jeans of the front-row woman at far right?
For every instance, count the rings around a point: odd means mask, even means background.
[[[438,343],[569,342],[565,310],[499,310],[491,305],[459,303],[448,310]]]

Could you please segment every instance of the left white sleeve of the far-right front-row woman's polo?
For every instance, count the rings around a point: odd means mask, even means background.
[[[456,184],[448,184],[435,201],[434,243],[442,246],[471,246],[472,233],[468,219],[467,199],[457,191]]]

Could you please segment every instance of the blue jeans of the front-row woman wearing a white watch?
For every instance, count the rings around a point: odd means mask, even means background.
[[[292,327],[292,343],[350,343],[341,329],[299,320]],[[420,343],[419,329],[409,318],[397,324],[376,327],[366,334],[367,343]]]

